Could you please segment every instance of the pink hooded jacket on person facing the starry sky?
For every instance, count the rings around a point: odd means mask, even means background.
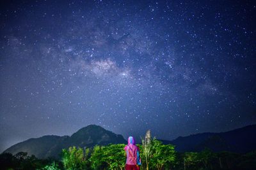
[[[140,165],[140,150],[132,136],[128,138],[128,144],[124,147],[124,150],[126,152],[126,164]]]

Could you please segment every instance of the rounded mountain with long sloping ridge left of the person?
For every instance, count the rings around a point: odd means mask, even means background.
[[[40,159],[46,159],[47,157],[60,159],[63,148],[70,146],[89,148],[95,145],[108,145],[109,143],[127,143],[127,141],[120,134],[107,131],[98,125],[88,125],[79,129],[72,136],[51,135],[31,138],[11,146],[4,152],[12,154],[28,152],[29,155],[35,155]]]

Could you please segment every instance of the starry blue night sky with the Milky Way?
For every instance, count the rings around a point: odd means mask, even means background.
[[[86,125],[140,141],[256,123],[255,1],[7,1],[0,152]]]

